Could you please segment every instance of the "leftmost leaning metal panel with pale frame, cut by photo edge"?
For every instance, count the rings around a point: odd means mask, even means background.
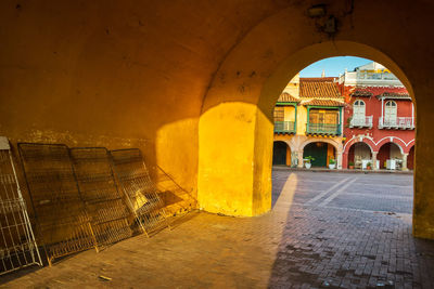
[[[42,265],[8,139],[0,136],[0,275]]]

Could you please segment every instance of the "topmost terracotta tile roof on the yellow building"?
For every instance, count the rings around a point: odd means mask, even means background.
[[[326,78],[326,77],[324,77]],[[318,80],[320,79],[320,80]],[[341,97],[336,82],[324,80],[323,78],[301,78],[299,79],[299,96],[311,98],[336,98]]]

